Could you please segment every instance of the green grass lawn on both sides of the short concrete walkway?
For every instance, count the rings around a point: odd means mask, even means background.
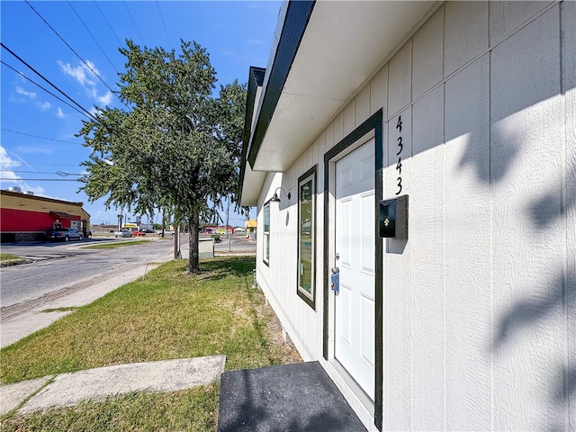
[[[226,369],[283,363],[272,311],[251,288],[254,257],[172,261],[0,350],[2,383],[93,367],[193,356],[227,357]],[[0,419],[0,430],[214,431],[217,384],[184,392],[135,393]]]

